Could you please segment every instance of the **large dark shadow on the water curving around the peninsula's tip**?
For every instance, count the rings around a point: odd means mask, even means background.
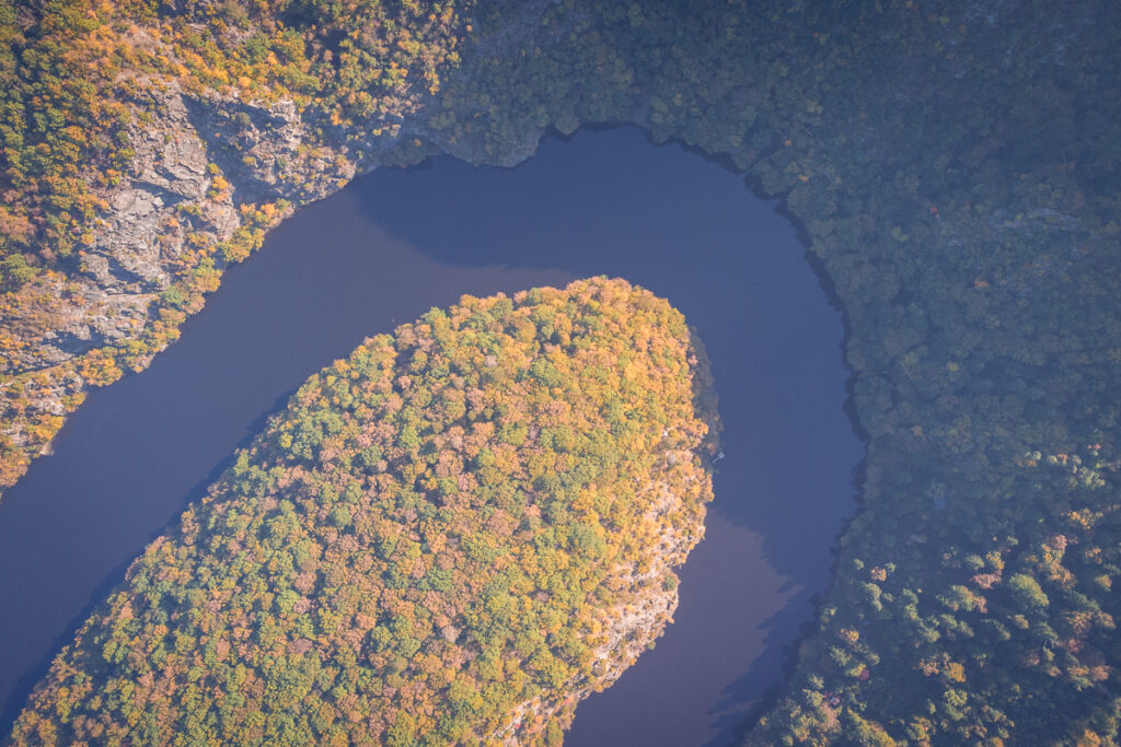
[[[578,159],[569,158],[573,139]],[[717,499],[729,519],[773,538],[767,559],[797,575],[804,548],[781,531],[821,527],[828,545],[852,508],[863,456],[845,417],[840,307],[779,205],[753,197],[730,164],[694,155],[673,143],[651,148],[634,128],[581,131],[546,140],[515,169],[441,158],[438,180],[414,169],[380,171],[354,189],[372,222],[442,263],[619,276],[682,309],[713,358],[724,440],[734,449],[719,465],[719,493],[751,485],[751,467],[771,484],[781,478],[786,494],[797,487],[807,498],[843,497],[819,522],[788,521],[805,505],[779,496]],[[460,220],[436,218],[450,205]],[[807,261],[817,272],[807,272]],[[767,442],[791,452],[760,464],[752,455],[778,451]]]

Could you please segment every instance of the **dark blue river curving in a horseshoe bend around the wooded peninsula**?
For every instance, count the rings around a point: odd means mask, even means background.
[[[840,314],[743,179],[633,129],[516,169],[442,158],[300,211],[141,374],[94,392],[0,503],[6,734],[143,545],[308,375],[461,293],[627,278],[697,327],[724,451],[666,635],[577,710],[569,745],[721,745],[781,675],[853,510]]]

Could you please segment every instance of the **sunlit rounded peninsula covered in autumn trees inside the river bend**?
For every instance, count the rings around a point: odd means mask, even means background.
[[[605,279],[368,339],[133,563],[12,743],[558,744],[676,607],[707,365]]]

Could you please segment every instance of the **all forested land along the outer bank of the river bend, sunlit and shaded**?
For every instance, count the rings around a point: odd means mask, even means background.
[[[1121,4],[0,8],[2,475],[354,174],[630,122],[782,199],[868,440],[754,744],[1119,739]]]

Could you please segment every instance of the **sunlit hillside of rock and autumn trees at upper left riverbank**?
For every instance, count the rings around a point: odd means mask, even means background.
[[[452,3],[0,9],[0,486],[265,232],[411,162]]]

